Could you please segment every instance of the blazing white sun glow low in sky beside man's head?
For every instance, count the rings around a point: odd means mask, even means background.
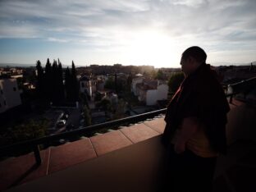
[[[180,53],[176,43],[167,34],[157,31],[136,33],[124,50],[126,59],[140,65],[155,67],[179,66]]]

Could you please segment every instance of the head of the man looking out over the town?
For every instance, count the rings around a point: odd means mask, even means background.
[[[185,75],[190,75],[200,65],[205,64],[207,54],[203,51],[203,48],[193,46],[187,48],[181,56],[181,69]]]

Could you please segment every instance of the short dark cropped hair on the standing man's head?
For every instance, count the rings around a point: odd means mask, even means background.
[[[203,51],[203,48],[198,46],[193,46],[187,48],[184,53],[182,53],[182,59],[188,59],[189,57],[194,57],[197,62],[205,63],[207,54]]]

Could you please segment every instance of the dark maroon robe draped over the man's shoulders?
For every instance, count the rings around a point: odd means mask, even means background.
[[[167,126],[162,142],[170,144],[185,117],[196,117],[205,127],[211,148],[226,153],[226,113],[230,107],[217,74],[207,64],[202,64],[188,75],[167,107]]]

